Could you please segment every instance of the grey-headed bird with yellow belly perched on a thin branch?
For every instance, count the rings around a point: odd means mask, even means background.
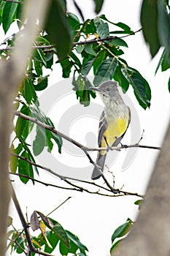
[[[108,148],[117,146],[128,129],[131,121],[131,112],[117,89],[117,82],[106,81],[98,87],[90,87],[91,90],[97,91],[101,100],[104,102],[104,111],[98,127],[98,147]],[[98,151],[96,164],[100,170],[104,171],[104,162],[107,157],[107,151]],[[91,178],[100,178],[98,168],[94,167]]]

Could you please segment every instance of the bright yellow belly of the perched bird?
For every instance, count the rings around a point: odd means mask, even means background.
[[[128,128],[128,117],[117,118],[115,121],[107,122],[107,129],[101,139],[101,147],[112,146],[115,140],[123,135]],[[106,154],[106,151],[101,151],[101,154]]]

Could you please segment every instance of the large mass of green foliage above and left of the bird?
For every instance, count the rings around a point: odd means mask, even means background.
[[[102,1],[95,2],[98,12]],[[18,21],[18,33],[5,41],[8,48],[15,45],[15,38],[22,33],[20,24],[23,24],[24,20],[20,20],[21,5],[23,4],[1,1],[0,15],[4,32],[7,33],[13,21]],[[10,15],[7,15],[9,10]],[[53,122],[39,108],[37,93],[47,88],[48,75],[43,75],[43,69],[49,69],[50,72],[56,58],[58,59],[56,62],[61,64],[63,78],[73,76],[73,90],[76,91],[77,99],[80,99],[81,104],[87,106],[90,97],[96,97],[93,91],[88,90],[92,86],[88,74],[93,72],[94,86],[98,86],[104,80],[115,79],[124,92],[128,90],[129,85],[133,87],[136,99],[142,108],[150,107],[150,86],[139,71],[128,67],[125,59],[122,58],[123,48],[128,48],[128,45],[123,37],[117,37],[117,34],[130,36],[134,31],[125,23],[113,23],[105,15],[80,23],[76,15],[66,12],[66,1],[51,1],[45,31],[40,31],[35,39],[34,46],[38,48],[28,60],[25,78],[15,99],[15,110],[18,109],[21,113],[53,127]],[[103,40],[98,41],[98,39]],[[50,45],[52,45],[50,50],[43,48]],[[9,50],[1,51],[1,58],[7,59],[9,56]],[[28,145],[26,140],[33,128],[33,123],[18,117],[14,129],[15,138],[11,145],[13,153],[35,162],[34,156],[41,154],[45,147],[51,152],[54,143],[61,153],[61,137],[42,127],[36,127],[34,143]],[[12,156],[10,167],[13,173],[18,172],[31,178],[34,178],[34,171],[38,173],[37,167],[32,167],[28,162],[15,156]],[[28,182],[28,178],[20,177],[20,180],[25,184]]]

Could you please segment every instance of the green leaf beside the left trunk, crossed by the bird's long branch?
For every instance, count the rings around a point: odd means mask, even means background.
[[[26,107],[26,105],[23,105],[23,107],[20,109],[20,112],[27,116],[30,115],[30,110]],[[15,126],[15,132],[18,138],[20,138],[20,136],[23,135],[23,131],[25,127],[27,127],[26,129],[28,129],[28,122],[29,122],[28,120],[18,117],[16,126]],[[26,132],[26,130],[24,132]]]

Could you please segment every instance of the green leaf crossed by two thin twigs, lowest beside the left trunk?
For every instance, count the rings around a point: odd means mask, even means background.
[[[26,159],[28,159],[28,153],[26,151],[23,151],[23,153],[21,154],[21,157],[25,157]],[[26,176],[30,176],[30,167],[28,162],[24,161],[23,159],[18,159],[18,173]],[[29,179],[25,177],[20,177],[20,180],[24,184],[26,184],[29,181]]]

